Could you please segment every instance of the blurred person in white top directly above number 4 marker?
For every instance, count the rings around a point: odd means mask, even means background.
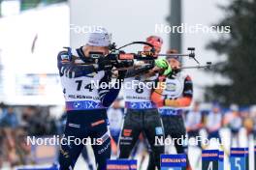
[[[220,106],[214,103],[212,110],[208,113],[206,128],[208,131],[208,139],[216,138],[221,143],[221,138],[219,135],[219,129],[222,125],[222,115],[220,112]]]

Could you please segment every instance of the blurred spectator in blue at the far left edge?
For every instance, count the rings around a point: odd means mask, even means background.
[[[4,128],[16,128],[18,126],[16,112],[13,107],[8,107],[1,119],[0,125]]]

